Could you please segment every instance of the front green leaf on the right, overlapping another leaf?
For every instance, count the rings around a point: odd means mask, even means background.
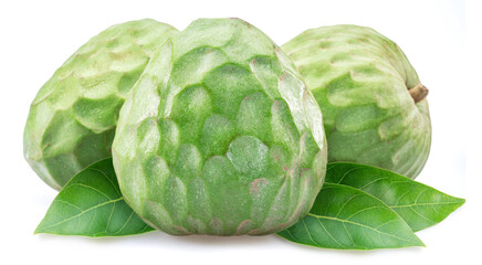
[[[338,250],[423,246],[385,203],[355,188],[325,183],[306,218],[280,236],[300,244]]]

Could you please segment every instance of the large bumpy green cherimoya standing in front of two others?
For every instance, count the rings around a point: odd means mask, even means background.
[[[133,88],[113,158],[124,198],[153,227],[255,235],[310,211],[325,141],[316,100],[266,35],[238,19],[197,20]]]

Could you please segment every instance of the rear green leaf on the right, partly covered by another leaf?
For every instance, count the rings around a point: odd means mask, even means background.
[[[358,163],[329,163],[325,182],[349,186],[378,198],[415,232],[440,223],[465,202],[407,177]]]

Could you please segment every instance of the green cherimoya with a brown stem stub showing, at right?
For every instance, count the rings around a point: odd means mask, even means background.
[[[397,44],[369,28],[334,25],[282,47],[323,112],[329,162],[420,173],[431,141],[428,91]]]

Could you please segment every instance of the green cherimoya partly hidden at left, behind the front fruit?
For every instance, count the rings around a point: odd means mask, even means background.
[[[42,86],[23,135],[27,161],[60,190],[86,166],[111,157],[124,99],[151,54],[176,29],[154,20],[113,25],[81,46]]]

